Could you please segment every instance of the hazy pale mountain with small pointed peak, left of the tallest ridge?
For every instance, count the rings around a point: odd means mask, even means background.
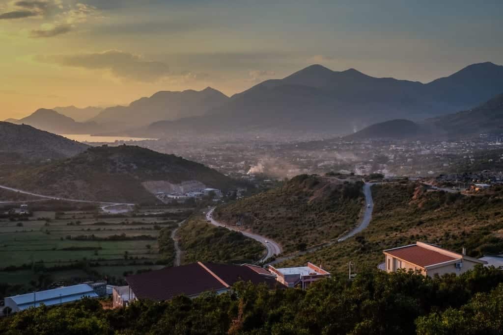
[[[150,97],[142,97],[133,101],[129,106],[106,108],[92,121],[99,124],[120,121],[131,127],[138,127],[138,125],[148,125],[156,121],[202,116],[227,99],[227,96],[222,92],[211,87],[201,91],[159,91]]]

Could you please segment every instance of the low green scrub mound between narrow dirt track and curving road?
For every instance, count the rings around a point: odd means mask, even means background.
[[[241,233],[214,227],[202,217],[191,217],[177,231],[182,263],[253,263],[265,253],[264,246]]]

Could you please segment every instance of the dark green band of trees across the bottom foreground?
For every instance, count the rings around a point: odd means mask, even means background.
[[[196,299],[134,302],[103,309],[98,300],[29,309],[0,319],[14,334],[500,334],[503,272],[478,267],[429,278],[411,272],[328,279],[307,291],[243,282]]]

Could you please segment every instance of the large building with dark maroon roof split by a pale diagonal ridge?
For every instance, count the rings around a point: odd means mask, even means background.
[[[154,301],[170,300],[177,295],[197,297],[204,292],[227,292],[238,282],[265,283],[276,286],[270,273],[261,273],[250,265],[215,264],[197,262],[178,267],[167,267],[126,278],[128,292],[133,301],[146,299]],[[126,293],[127,294],[127,293]]]

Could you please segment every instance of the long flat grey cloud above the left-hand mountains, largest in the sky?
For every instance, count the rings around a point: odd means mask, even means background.
[[[90,70],[108,70],[114,76],[142,82],[157,81],[170,74],[163,62],[150,61],[142,56],[120,50],[73,55],[38,56],[38,61],[61,66],[80,67]]]

